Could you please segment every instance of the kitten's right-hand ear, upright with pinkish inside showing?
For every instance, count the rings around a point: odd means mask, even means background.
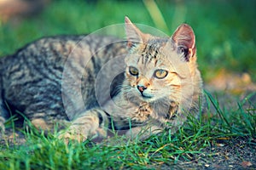
[[[178,54],[183,54],[185,61],[189,61],[196,52],[195,34],[191,26],[182,24],[172,34],[172,42],[175,43]]]

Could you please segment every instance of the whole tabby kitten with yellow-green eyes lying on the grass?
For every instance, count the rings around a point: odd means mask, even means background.
[[[61,138],[106,137],[108,129],[146,138],[175,133],[203,103],[195,34],[183,24],[154,37],[125,17],[127,39],[44,37],[0,59],[0,126],[9,109],[35,127],[68,127]]]

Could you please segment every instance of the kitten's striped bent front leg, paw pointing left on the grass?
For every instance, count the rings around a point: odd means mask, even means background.
[[[107,137],[108,116],[99,108],[84,111],[74,119],[67,132],[61,134],[61,139],[75,139],[82,142],[91,137]]]

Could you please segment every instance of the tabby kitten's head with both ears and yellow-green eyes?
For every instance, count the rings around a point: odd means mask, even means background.
[[[125,77],[139,99],[180,98],[183,79],[196,69],[195,34],[189,25],[177,28],[172,37],[154,37],[140,31],[125,17],[127,46]]]

